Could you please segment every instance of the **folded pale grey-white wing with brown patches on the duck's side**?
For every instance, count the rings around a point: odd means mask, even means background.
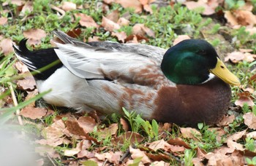
[[[89,44],[57,44],[61,62],[72,74],[83,79],[107,79],[120,84],[140,84],[157,87],[170,84],[155,58],[136,52],[117,52]]]

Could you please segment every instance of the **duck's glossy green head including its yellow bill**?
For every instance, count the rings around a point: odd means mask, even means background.
[[[201,84],[212,74],[228,84],[240,84],[219,59],[214,47],[204,40],[188,39],[171,47],[165,52],[161,69],[167,79],[176,84]]]

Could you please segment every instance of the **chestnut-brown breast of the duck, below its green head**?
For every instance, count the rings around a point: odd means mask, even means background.
[[[230,86],[217,77],[200,85],[162,87],[151,118],[178,125],[213,125],[226,113],[230,98]]]

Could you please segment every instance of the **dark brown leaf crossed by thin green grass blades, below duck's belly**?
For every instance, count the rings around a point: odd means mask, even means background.
[[[118,145],[118,144],[120,145],[120,144],[124,144],[126,141],[129,141],[131,143],[140,143],[143,140],[144,140],[143,136],[141,136],[139,133],[127,132],[119,135],[118,138],[114,138],[112,140],[112,143],[114,145]]]

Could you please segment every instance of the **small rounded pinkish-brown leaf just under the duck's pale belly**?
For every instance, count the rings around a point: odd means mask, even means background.
[[[78,125],[83,128],[86,133],[94,131],[94,127],[97,125],[95,119],[91,116],[80,116],[78,119]]]

